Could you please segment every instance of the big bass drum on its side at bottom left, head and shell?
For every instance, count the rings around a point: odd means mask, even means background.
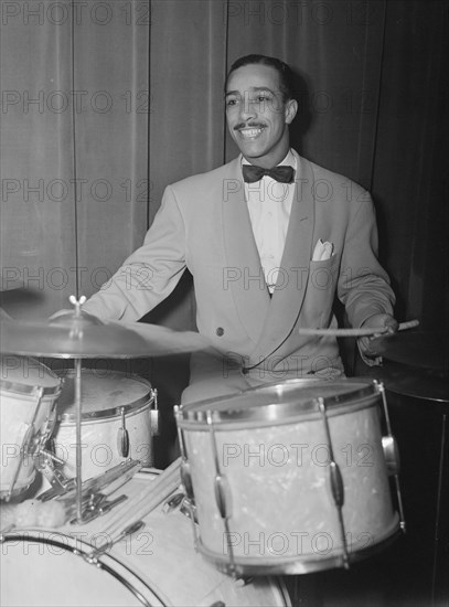
[[[129,503],[148,490],[149,475],[137,475],[121,490]],[[223,575],[195,552],[191,521],[161,505],[146,526],[89,564],[87,554],[105,542],[107,515],[74,530],[15,530],[1,546],[1,600],[10,606],[212,606],[290,605],[277,579],[244,585]],[[124,520],[124,528],[127,521]],[[23,575],[26,572],[26,583]]]

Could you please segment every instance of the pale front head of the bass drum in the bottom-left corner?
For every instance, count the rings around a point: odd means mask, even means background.
[[[2,545],[1,605],[162,605],[147,584],[114,556],[104,555],[97,566],[88,563],[83,555],[90,551],[90,545],[57,532],[7,533]]]

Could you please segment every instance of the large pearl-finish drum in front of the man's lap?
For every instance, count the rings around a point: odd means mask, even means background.
[[[178,411],[200,551],[227,572],[301,574],[396,534],[379,401],[376,383],[291,380]]]

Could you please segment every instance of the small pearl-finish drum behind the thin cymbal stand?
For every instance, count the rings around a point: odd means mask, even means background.
[[[62,374],[62,373],[61,373]],[[75,371],[62,374],[52,450],[76,475]],[[151,406],[156,391],[138,375],[82,370],[82,476],[95,477],[127,458],[152,464]]]

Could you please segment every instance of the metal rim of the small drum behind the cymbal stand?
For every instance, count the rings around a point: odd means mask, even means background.
[[[65,376],[73,376],[75,375],[74,369],[68,370],[61,370],[64,373],[63,380]],[[58,371],[56,370],[56,373]],[[92,369],[82,369],[82,379],[83,379],[83,372],[87,372],[85,374],[94,374],[94,371]],[[131,403],[127,403],[126,405],[118,405],[116,407],[110,408],[104,408],[104,409],[95,409],[95,411],[83,411],[82,412],[82,420],[95,420],[95,419],[114,419],[116,417],[119,417],[121,415],[121,412],[125,412],[125,414],[135,412],[138,413],[140,409],[145,408],[146,405],[151,405],[154,402],[154,390],[151,385],[151,383],[146,380],[145,377],[141,377],[137,373],[122,373],[121,371],[114,371],[115,375],[118,376],[126,376],[129,380],[133,380],[146,387],[148,387],[148,392],[140,396],[139,398],[136,398],[136,401],[132,401]],[[61,377],[61,375],[60,375]],[[101,379],[101,377],[99,377]],[[71,408],[75,408],[75,404],[72,403],[70,405]],[[57,414],[57,422],[58,423],[68,423],[74,424],[76,422],[76,411],[74,413],[60,413]]]

